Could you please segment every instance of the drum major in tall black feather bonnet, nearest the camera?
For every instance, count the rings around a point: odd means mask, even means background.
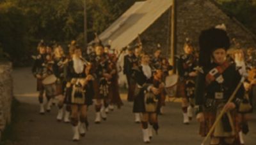
[[[200,121],[200,135],[205,136],[224,108],[225,114],[214,127],[210,144],[239,144],[235,143],[239,132],[236,109],[244,95],[244,87],[239,88],[232,102],[227,102],[241,81],[241,74],[236,65],[227,59],[230,41],[224,29],[212,27],[200,34],[200,69],[195,90],[196,119]]]

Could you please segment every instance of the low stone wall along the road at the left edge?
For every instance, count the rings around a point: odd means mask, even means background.
[[[13,99],[12,63],[0,62],[0,133],[11,121]],[[1,134],[0,134],[1,137]]]

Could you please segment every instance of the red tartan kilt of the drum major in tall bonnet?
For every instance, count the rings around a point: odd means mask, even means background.
[[[232,116],[232,121],[234,123],[234,132],[235,136],[230,136],[230,137],[239,137],[238,133],[241,130],[241,117],[237,113],[236,109],[233,111],[230,111],[230,114]],[[209,130],[211,129],[212,125],[214,124],[214,121],[216,120],[216,112],[214,111],[205,111],[204,112],[204,119],[205,121],[200,123],[200,129],[199,129],[199,134],[202,135],[202,137],[205,137]],[[211,134],[211,137],[213,137],[213,133]]]

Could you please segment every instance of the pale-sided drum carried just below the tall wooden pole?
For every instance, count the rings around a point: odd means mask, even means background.
[[[177,91],[177,83],[179,76],[177,74],[172,74],[171,76],[166,76],[165,78],[165,91],[168,97],[175,97]]]

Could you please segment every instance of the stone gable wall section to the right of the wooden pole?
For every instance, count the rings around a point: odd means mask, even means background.
[[[235,18],[228,17],[213,0],[188,0],[177,8],[177,50],[182,52],[186,37],[198,48],[200,32],[214,25],[225,24],[228,36],[242,47],[256,46],[256,38]]]

